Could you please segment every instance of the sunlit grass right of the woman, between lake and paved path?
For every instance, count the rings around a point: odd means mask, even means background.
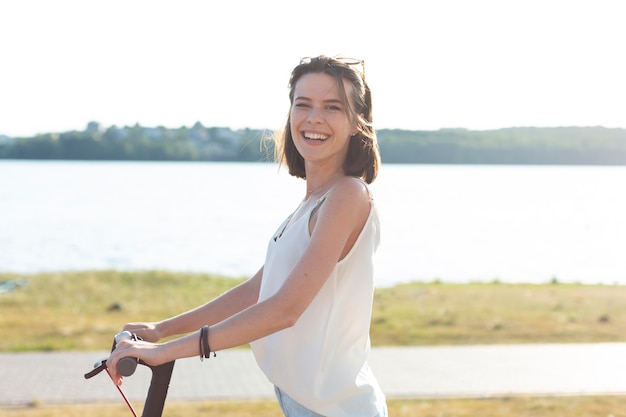
[[[626,340],[626,287],[404,284],[378,291],[375,345]]]

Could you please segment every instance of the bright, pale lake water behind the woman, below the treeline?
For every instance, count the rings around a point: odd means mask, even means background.
[[[626,284],[626,167],[383,165],[381,286]],[[248,276],[304,182],[273,164],[0,161],[0,271]]]

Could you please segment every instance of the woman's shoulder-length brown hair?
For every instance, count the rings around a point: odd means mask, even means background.
[[[303,60],[291,73],[289,102],[293,104],[296,83],[303,75],[324,73],[335,78],[348,117],[357,120],[357,133],[350,137],[348,155],[343,166],[344,174],[362,178],[370,184],[378,174],[380,153],[376,132],[372,127],[372,93],[364,80],[363,73],[354,68],[354,64],[361,65],[361,61],[346,63],[341,59],[326,56]],[[350,105],[350,100],[346,95],[343,80],[352,84],[351,98],[354,108]],[[291,117],[288,117],[285,128],[274,138],[274,159],[281,164],[285,162],[291,175],[306,178],[304,158],[293,143],[290,126]]]

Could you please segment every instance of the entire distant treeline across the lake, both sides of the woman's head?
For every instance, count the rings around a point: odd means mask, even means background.
[[[0,159],[268,161],[271,132],[139,125],[26,138],[0,136]],[[626,165],[626,129],[506,128],[437,131],[378,130],[384,163]]]

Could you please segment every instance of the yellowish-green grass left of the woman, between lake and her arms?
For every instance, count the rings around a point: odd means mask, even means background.
[[[169,317],[239,282],[158,271],[22,277],[28,283],[26,288],[0,295],[0,351],[107,349],[124,323]],[[0,275],[0,281],[10,278],[15,276]],[[119,308],[113,308],[115,305]]]

